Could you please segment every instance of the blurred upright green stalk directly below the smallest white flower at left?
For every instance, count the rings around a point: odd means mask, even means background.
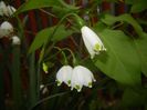
[[[13,46],[12,48],[12,94],[13,94],[13,109],[22,110],[23,109],[23,99],[22,99],[22,88],[21,88],[21,77],[20,77],[20,47]]]

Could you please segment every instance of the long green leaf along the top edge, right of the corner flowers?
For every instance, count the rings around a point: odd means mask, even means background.
[[[28,0],[25,3],[23,3],[15,14],[29,11],[32,9],[40,9],[40,8],[46,8],[46,7],[52,7],[52,6],[60,6],[61,3],[59,0]]]

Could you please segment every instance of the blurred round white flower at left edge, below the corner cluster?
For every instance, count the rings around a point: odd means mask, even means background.
[[[8,21],[2,22],[0,26],[0,38],[9,36],[13,32],[12,24]]]

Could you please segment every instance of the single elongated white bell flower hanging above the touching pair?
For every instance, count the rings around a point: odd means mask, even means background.
[[[99,54],[101,51],[106,51],[106,48],[104,47],[99,37],[92,29],[84,26],[82,27],[81,31],[84,44],[87,48],[91,58],[94,58],[95,54]]]

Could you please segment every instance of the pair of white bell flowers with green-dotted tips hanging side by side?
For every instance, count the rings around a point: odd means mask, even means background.
[[[92,82],[96,81],[93,73],[83,66],[76,66],[72,68],[71,66],[63,66],[56,73],[57,86],[62,82],[74,88],[80,92],[82,87],[92,88]]]

